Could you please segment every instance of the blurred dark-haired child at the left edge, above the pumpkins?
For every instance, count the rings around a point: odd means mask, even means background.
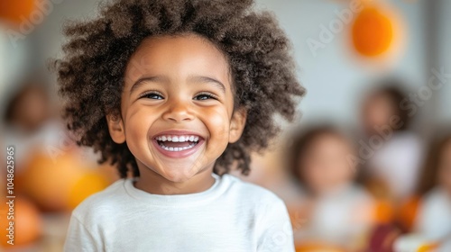
[[[16,168],[22,169],[32,153],[46,150],[60,142],[57,111],[43,79],[31,76],[7,101],[3,121],[5,143],[20,149],[16,152]],[[5,146],[4,146],[5,148]]]

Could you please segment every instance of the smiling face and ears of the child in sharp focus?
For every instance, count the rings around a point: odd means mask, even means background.
[[[126,141],[141,179],[151,171],[171,182],[212,169],[244,121],[243,110],[234,112],[226,58],[193,34],[143,40],[125,70],[121,118],[108,116],[112,138]]]

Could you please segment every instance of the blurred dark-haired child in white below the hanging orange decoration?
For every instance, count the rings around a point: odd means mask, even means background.
[[[365,156],[365,184],[378,199],[396,207],[414,193],[423,148],[409,130],[414,111],[400,90],[402,83],[387,80],[377,86],[364,100],[363,140],[368,149],[359,153]]]

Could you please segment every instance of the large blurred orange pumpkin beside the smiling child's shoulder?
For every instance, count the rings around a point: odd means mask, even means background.
[[[75,151],[53,159],[41,153],[34,155],[18,181],[23,193],[45,211],[70,211],[111,184],[107,175],[88,166]]]

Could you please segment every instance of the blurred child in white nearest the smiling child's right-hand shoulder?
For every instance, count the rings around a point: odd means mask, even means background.
[[[295,230],[299,246],[359,247],[372,226],[373,199],[354,183],[352,142],[340,130],[322,126],[295,136],[291,149],[290,169],[302,190],[292,214],[304,220]]]

